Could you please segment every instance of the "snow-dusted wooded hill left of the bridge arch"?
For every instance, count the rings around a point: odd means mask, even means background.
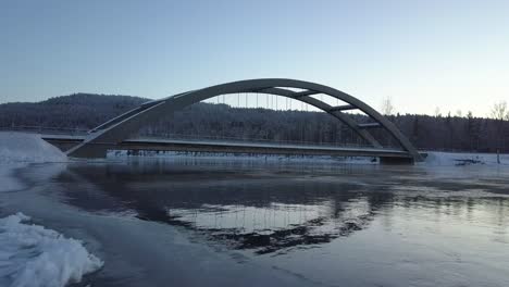
[[[92,128],[149,99],[116,95],[74,93],[41,102],[0,104],[0,126]]]

